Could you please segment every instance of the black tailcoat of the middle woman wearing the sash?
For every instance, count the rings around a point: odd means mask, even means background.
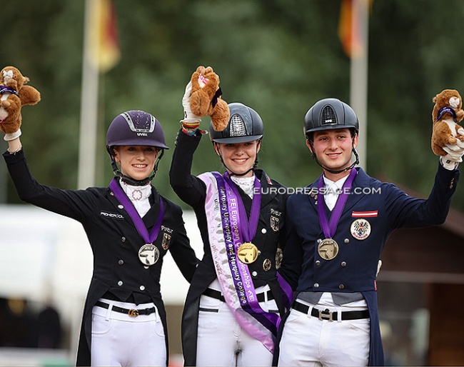
[[[200,296],[216,278],[216,270],[208,239],[208,223],[206,222],[206,184],[198,177],[191,175],[193,153],[196,151],[200,140],[200,135],[190,136],[182,131],[178,133],[170,171],[171,186],[174,191],[182,201],[192,206],[196,213],[204,250],[203,259],[198,263],[183,310],[182,348],[186,366],[196,366]],[[263,195],[261,196],[258,229],[252,242],[258,247],[261,254],[255,262],[248,264],[248,268],[253,277],[253,285],[259,287],[268,284],[273,296],[276,298],[276,303],[280,308],[279,311],[283,313],[283,297],[277,281],[276,251],[278,248],[283,248],[283,226],[288,195],[286,195],[286,188],[277,181],[269,179],[264,171],[256,170],[255,174],[261,182]],[[251,198],[239,187],[238,191],[249,216]],[[277,228],[276,221],[278,221]],[[266,266],[263,267],[263,262],[266,260],[271,260],[272,263],[271,268],[268,270],[265,270]]]

